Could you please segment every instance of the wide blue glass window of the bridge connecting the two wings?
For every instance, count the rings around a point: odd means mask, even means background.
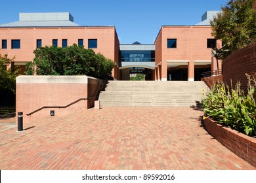
[[[121,61],[155,61],[154,50],[121,50]]]

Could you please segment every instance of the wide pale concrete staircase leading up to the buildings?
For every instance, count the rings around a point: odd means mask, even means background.
[[[190,107],[201,101],[204,82],[109,81],[100,92],[101,107],[169,106]]]

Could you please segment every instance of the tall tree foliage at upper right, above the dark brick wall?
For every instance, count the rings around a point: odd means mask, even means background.
[[[211,21],[212,35],[225,44],[219,50],[221,59],[256,41],[256,10],[252,8],[253,3],[254,0],[230,0]]]

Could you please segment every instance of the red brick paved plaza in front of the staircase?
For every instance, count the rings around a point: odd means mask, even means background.
[[[64,118],[0,120],[0,169],[255,169],[203,129],[202,111],[106,107]],[[12,126],[11,126],[12,125]]]

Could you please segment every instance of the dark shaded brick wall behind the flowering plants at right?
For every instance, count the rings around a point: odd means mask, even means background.
[[[245,73],[256,77],[256,42],[231,54],[223,61],[223,81],[234,86],[241,82],[241,88],[247,92],[247,78]]]

